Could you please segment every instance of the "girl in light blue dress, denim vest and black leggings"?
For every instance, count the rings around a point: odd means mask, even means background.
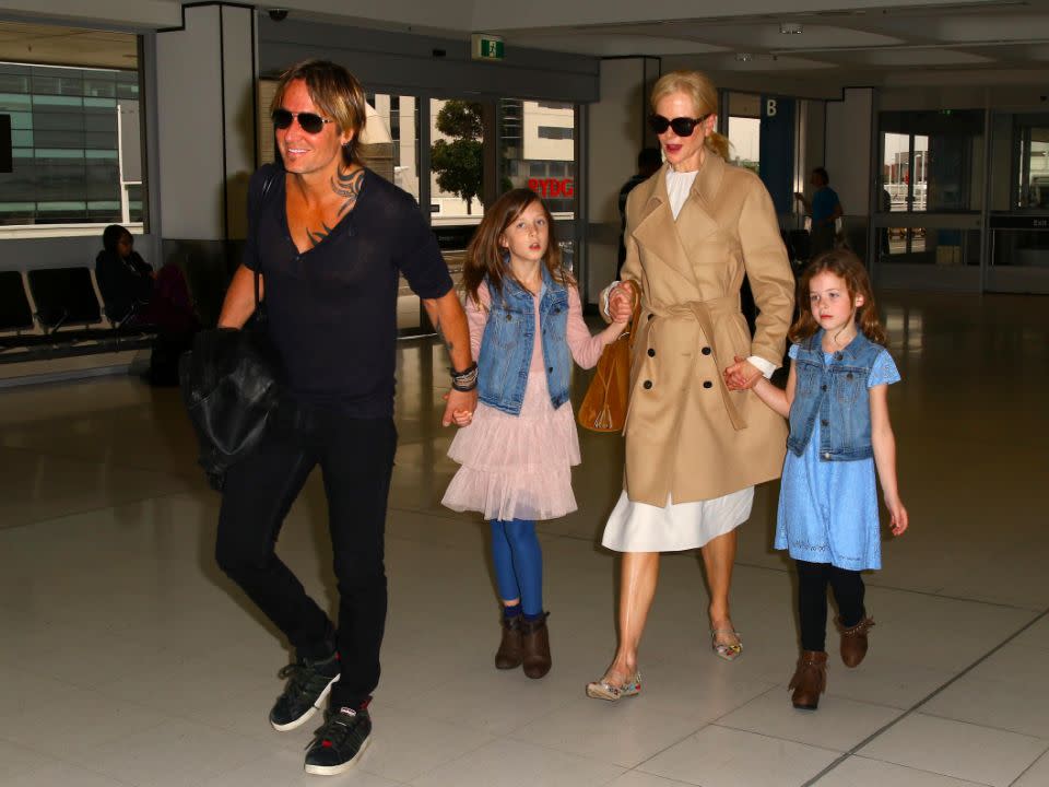
[[[790,682],[792,702],[815,709],[826,688],[827,585],[838,606],[846,667],[863,660],[874,625],[860,572],[882,565],[875,469],[894,536],[907,529],[907,509],[896,484],[887,406],[888,386],[899,374],[862,262],[844,249],[821,255],[798,292],[787,389],[761,378],[754,392],[790,420],[775,547],[788,550],[798,566],[802,653]]]

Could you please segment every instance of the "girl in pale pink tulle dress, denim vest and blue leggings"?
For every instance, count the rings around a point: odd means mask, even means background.
[[[535,520],[576,509],[571,360],[584,368],[597,364],[625,321],[590,336],[576,282],[561,266],[550,211],[528,189],[508,191],[485,212],[467,249],[462,282],[478,408],[472,418],[455,414],[463,428],[448,456],[462,467],[443,503],[491,520],[503,600],[495,666],[523,665],[529,678],[542,678],[551,658]]]

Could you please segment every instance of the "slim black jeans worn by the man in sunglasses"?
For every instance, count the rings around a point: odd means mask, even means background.
[[[356,708],[379,682],[386,504],[397,430],[389,418],[355,419],[313,406],[288,408],[280,421],[258,451],[226,473],[215,557],[299,656],[328,656],[333,638],[328,615],[274,552],[292,503],[320,465],[339,584],[334,641],[341,678],[330,702]]]

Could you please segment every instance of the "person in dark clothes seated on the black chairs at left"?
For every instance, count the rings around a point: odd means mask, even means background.
[[[134,250],[131,233],[119,224],[106,227],[102,244],[95,277],[109,320],[155,328],[150,381],[177,385],[178,356],[200,329],[186,278],[175,265],[154,271]]]

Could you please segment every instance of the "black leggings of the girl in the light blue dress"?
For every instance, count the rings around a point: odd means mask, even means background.
[[[827,585],[834,591],[838,614],[846,627],[863,620],[863,576],[829,563],[794,561],[798,565],[798,618],[801,623],[801,649],[826,650]]]

